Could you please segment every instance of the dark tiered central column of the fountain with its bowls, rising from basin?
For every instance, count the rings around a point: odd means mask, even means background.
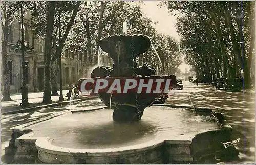
[[[135,59],[145,53],[151,45],[150,39],[143,35],[114,35],[101,40],[100,47],[104,52],[109,53],[113,59],[113,68],[98,66],[92,71],[91,78],[106,78],[109,84],[114,79],[126,80],[133,78],[144,79],[144,81],[148,82],[150,79],[161,78],[165,82],[169,79],[170,88],[172,88],[176,84],[174,75],[156,76],[155,69],[150,65],[137,66]],[[83,80],[81,79],[80,82]],[[162,85],[160,90],[163,90],[163,87]],[[93,84],[93,89],[95,89],[95,83]],[[150,106],[158,96],[162,95],[161,93],[138,94],[137,91],[130,91],[127,94],[116,92],[111,94],[106,93],[106,90],[104,90],[99,92],[98,95],[108,107],[111,98],[114,121],[136,121],[141,119],[144,109]]]

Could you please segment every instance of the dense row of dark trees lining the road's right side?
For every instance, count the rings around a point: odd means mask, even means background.
[[[255,54],[254,2],[166,2],[179,11],[177,29],[185,61],[197,77],[214,82],[216,77],[240,77],[250,86]],[[254,79],[254,78],[253,78]]]

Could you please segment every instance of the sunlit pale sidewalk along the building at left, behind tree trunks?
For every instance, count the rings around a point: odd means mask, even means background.
[[[68,90],[63,91],[64,101],[59,101],[59,96],[52,96],[52,104],[42,103],[43,92],[29,93],[28,102],[30,103],[29,107],[20,107],[21,95],[11,95],[12,101],[1,102],[1,114],[13,114],[13,113],[22,113],[27,111],[32,111],[36,109],[54,107],[59,105],[69,104],[70,100],[67,100],[66,93]],[[86,93],[85,93],[86,94]],[[97,98],[98,96],[89,96],[88,94],[79,96],[79,99],[74,99],[72,102],[83,101],[87,99]],[[20,98],[20,99],[19,99]]]

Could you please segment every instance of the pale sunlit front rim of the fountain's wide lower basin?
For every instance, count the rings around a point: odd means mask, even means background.
[[[229,124],[228,124],[229,125]],[[229,125],[230,126],[230,125]],[[231,126],[230,126],[231,127]],[[200,135],[204,134],[207,132],[212,132],[212,131],[222,131],[223,129],[229,131],[229,127],[221,127],[219,126],[218,129],[205,129],[200,132],[198,132],[196,135],[192,136],[177,136],[177,137],[172,137],[172,139],[153,139],[149,140],[145,143],[140,143],[136,145],[130,145],[130,146],[125,146],[125,147],[116,147],[116,148],[103,148],[103,149],[87,149],[87,148],[67,148],[67,147],[60,147],[60,146],[55,146],[51,144],[51,139],[49,136],[48,137],[38,137],[38,139],[35,142],[35,146],[38,149],[38,151],[44,151],[47,153],[58,153],[58,155],[70,155],[70,153],[87,153],[89,154],[88,156],[103,156],[107,154],[108,156],[114,156],[114,155],[120,155],[124,153],[134,153],[134,152],[143,152],[148,149],[153,149],[156,147],[159,147],[164,144],[188,144],[190,145],[192,143],[192,140]],[[31,132],[32,134],[33,132]],[[26,134],[29,136],[29,134]],[[25,136],[26,136],[25,135]],[[36,137],[34,137],[36,138]]]

